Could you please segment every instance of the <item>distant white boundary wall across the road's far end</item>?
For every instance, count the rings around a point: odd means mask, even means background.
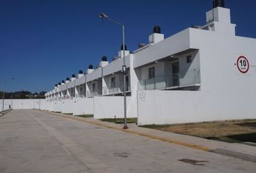
[[[45,108],[45,99],[4,99],[4,110],[9,110],[9,105],[13,110],[28,110]],[[3,100],[0,100],[0,111],[3,109]]]

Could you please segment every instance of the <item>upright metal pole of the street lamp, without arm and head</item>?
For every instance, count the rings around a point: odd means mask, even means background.
[[[124,44],[124,25],[123,27],[123,59],[124,59],[124,66],[125,66],[125,44]],[[126,75],[124,73],[124,127],[123,129],[127,129],[127,81]]]

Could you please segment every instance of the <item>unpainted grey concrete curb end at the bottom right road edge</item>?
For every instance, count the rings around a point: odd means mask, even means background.
[[[256,156],[252,154],[244,154],[239,151],[232,151],[229,149],[223,149],[223,148],[217,148],[214,150],[211,150],[210,152],[216,153],[216,154],[221,154],[223,156],[231,156],[231,157],[236,157],[238,159],[242,159],[245,161],[252,161],[256,162]]]

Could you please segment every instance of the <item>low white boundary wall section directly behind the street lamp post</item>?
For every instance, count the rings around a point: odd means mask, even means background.
[[[137,117],[131,108],[131,97],[127,97],[127,117]],[[94,118],[124,117],[124,97],[94,97]]]

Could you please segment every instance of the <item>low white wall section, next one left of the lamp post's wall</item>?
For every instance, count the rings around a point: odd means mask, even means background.
[[[93,114],[93,98],[74,98],[73,115]]]

